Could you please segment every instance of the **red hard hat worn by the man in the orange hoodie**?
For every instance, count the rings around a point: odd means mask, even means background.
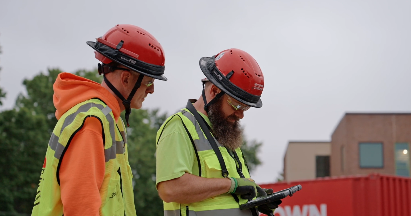
[[[96,42],[87,41],[95,49],[96,59],[103,64],[115,61],[130,70],[158,80],[164,74],[164,51],[147,31],[135,25],[115,25]]]

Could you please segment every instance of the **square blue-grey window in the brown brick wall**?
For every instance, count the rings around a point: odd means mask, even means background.
[[[383,143],[360,143],[360,168],[383,168]]]

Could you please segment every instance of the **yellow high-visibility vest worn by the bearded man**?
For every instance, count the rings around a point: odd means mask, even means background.
[[[162,135],[162,131],[166,124],[172,118],[180,118],[185,126],[187,134],[191,136],[194,151],[196,151],[196,157],[199,164],[198,175],[205,178],[222,178],[222,168],[217,159],[217,155],[212,149],[207,137],[204,135],[200,128],[199,123],[194,118],[193,114],[188,109],[181,109],[178,113],[173,114],[164,122],[157,132],[157,141]],[[242,155],[240,148],[235,150],[238,155],[239,162],[233,156],[230,156],[229,150],[215,142],[224,158],[229,177],[240,178],[239,171],[246,178],[250,178],[247,164]],[[241,168],[240,168],[241,167]],[[193,173],[194,174],[194,173]],[[193,192],[195,193],[195,191]],[[165,216],[252,216],[251,210],[240,210],[239,206],[247,202],[247,200],[241,199],[240,196],[236,196],[239,200],[237,202],[231,194],[224,193],[212,198],[205,199],[201,202],[180,204],[177,202],[163,202],[164,203],[164,215]]]

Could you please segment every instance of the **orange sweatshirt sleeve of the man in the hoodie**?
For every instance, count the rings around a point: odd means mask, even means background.
[[[105,172],[102,126],[97,118],[87,118],[74,135],[60,165],[63,214],[99,215],[99,190]]]

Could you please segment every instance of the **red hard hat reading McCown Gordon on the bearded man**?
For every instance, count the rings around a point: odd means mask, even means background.
[[[231,48],[200,59],[207,80],[224,93],[252,107],[261,107],[264,76],[257,61],[247,52]],[[206,80],[203,80],[206,81]]]

